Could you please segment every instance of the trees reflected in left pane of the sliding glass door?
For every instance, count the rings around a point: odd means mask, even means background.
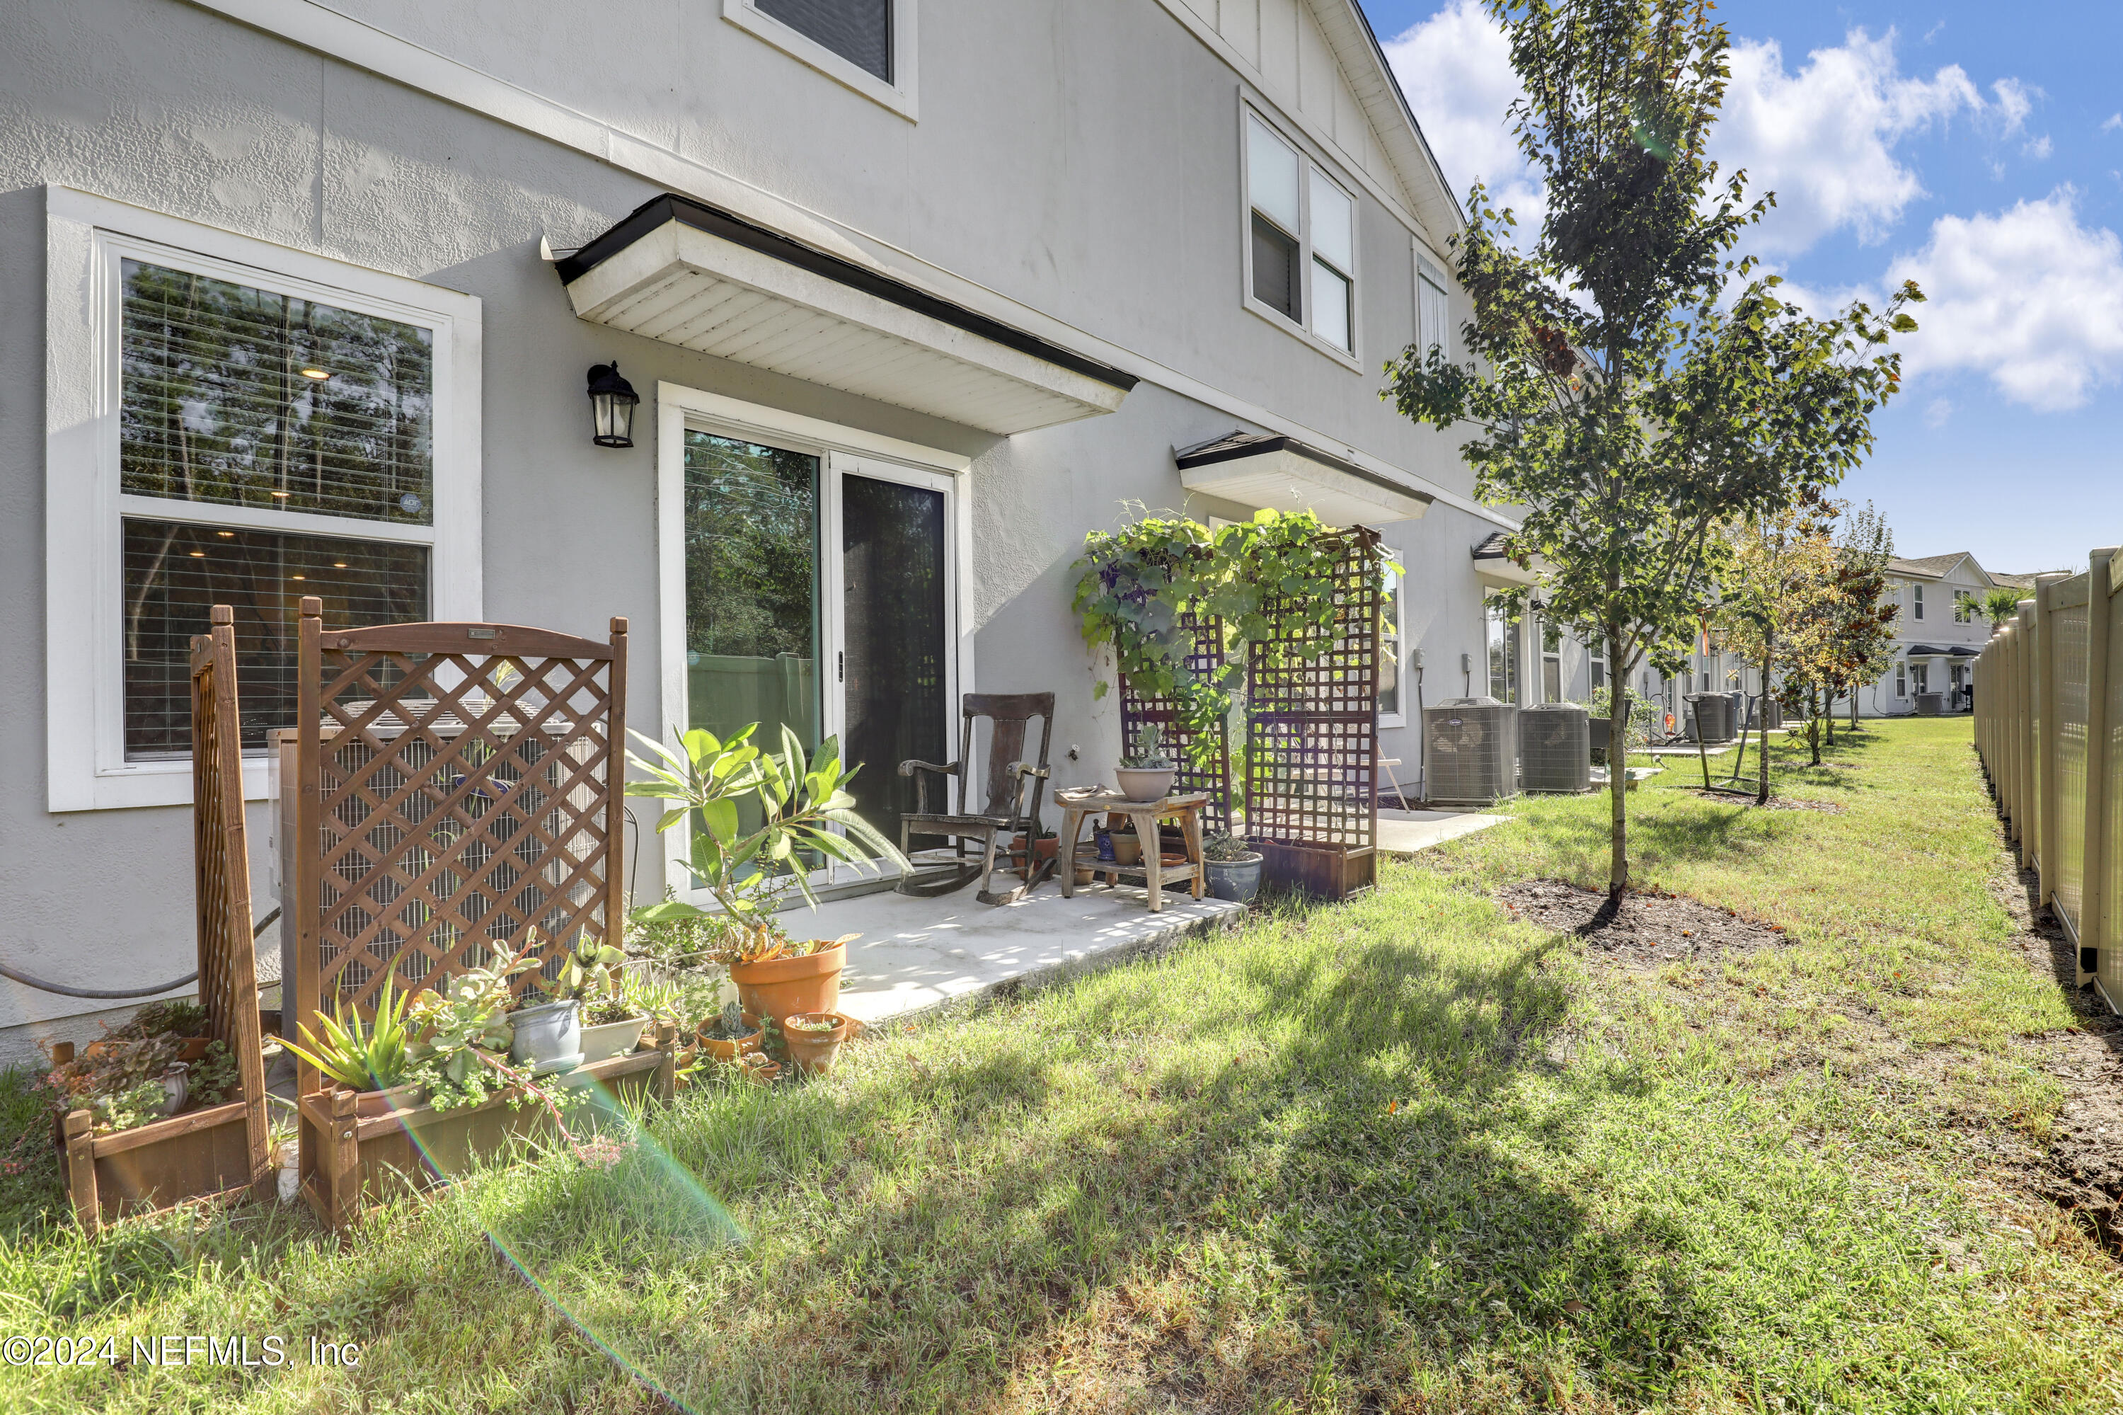
[[[815,657],[817,457],[686,433],[686,648]]]

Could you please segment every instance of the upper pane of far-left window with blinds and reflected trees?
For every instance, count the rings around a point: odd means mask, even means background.
[[[429,329],[127,259],[121,376],[125,493],[433,525]]]

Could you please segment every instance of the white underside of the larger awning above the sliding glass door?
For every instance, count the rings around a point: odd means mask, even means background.
[[[1127,395],[681,221],[567,295],[590,323],[1002,436],[1112,412]]]

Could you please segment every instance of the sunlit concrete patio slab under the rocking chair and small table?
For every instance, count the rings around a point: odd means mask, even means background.
[[[1144,892],[1129,886],[1087,886],[1062,899],[1062,886],[1049,880],[1013,905],[983,905],[968,884],[940,899],[834,899],[817,914],[786,914],[783,924],[798,937],[860,933],[847,945],[841,1011],[883,1022],[1112,967],[1189,933],[1236,926],[1246,914],[1246,905],[1172,890],[1163,903],[1151,914]]]

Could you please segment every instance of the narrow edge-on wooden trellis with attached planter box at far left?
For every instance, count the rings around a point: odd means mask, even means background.
[[[191,640],[191,820],[200,924],[200,1005],[206,1033],[236,1058],[236,1098],[113,1135],[89,1111],[62,1122],[74,1217],[106,1217],[185,1198],[261,1188],[272,1169],[265,1060],[259,1043],[257,954],[251,939],[251,856],[236,701],[236,614],[217,603]],[[70,1056],[72,1047],[68,1047]],[[68,1060],[55,1056],[55,1060]]]

